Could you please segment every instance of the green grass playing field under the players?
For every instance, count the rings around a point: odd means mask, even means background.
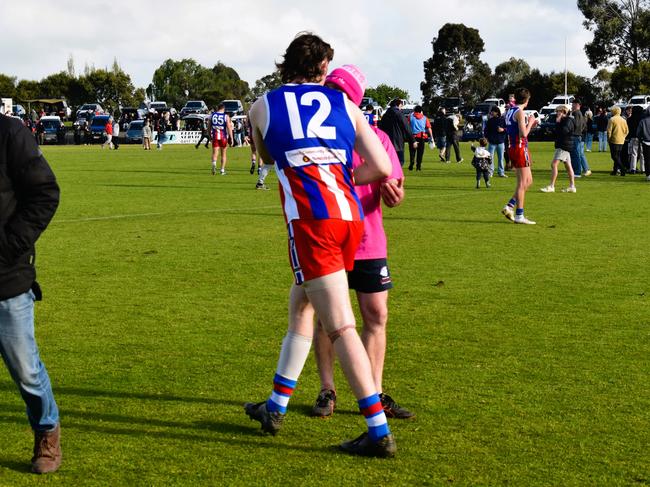
[[[376,460],[332,448],[365,428],[340,372],[334,417],[308,416],[311,357],[277,437],[243,413],[286,329],[275,175],[255,191],[246,149],[225,177],[189,146],[44,152],[62,197],[37,247],[37,335],[64,463],[27,473],[31,431],[0,372],[0,485],[650,484],[650,183],[609,176],[605,154],[577,194],[542,194],[552,146],[532,144],[536,226],[499,214],[514,177],[476,190],[467,162],[429,150],[407,174],[384,212],[384,387],[417,418],[391,422],[398,456]]]

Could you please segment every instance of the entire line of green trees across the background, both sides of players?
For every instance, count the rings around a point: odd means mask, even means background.
[[[600,69],[593,78],[569,72],[568,91],[587,105],[613,103],[650,92],[650,0],[577,0],[577,5],[584,16],[583,25],[594,33],[585,53],[591,67]],[[474,104],[490,96],[506,98],[517,86],[526,86],[532,93],[530,106],[540,108],[564,92],[563,72],[542,73],[523,59],[510,58],[492,71],[480,59],[485,44],[479,31],[464,24],[445,24],[431,45],[433,52],[423,63],[424,80],[420,83],[422,104],[428,113],[433,113],[441,99],[448,96],[459,96]],[[558,59],[558,64],[562,61]],[[86,66],[77,76],[70,57],[67,70],[40,81],[0,74],[3,97],[65,98],[73,106],[98,102],[112,111],[120,106],[137,106],[147,96],[175,107],[196,99],[208,106],[224,99],[250,102],[280,84],[277,71],[250,87],[234,68],[221,62],[205,67],[194,59],[165,60],[146,89],[135,88],[117,60],[110,69]],[[393,98],[410,98],[405,90],[387,84],[369,87],[366,96],[382,106]]]

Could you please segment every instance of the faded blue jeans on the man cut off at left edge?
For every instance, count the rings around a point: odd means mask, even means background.
[[[59,409],[50,377],[38,355],[32,291],[0,301],[0,354],[25,401],[32,429],[54,429],[59,423]]]

